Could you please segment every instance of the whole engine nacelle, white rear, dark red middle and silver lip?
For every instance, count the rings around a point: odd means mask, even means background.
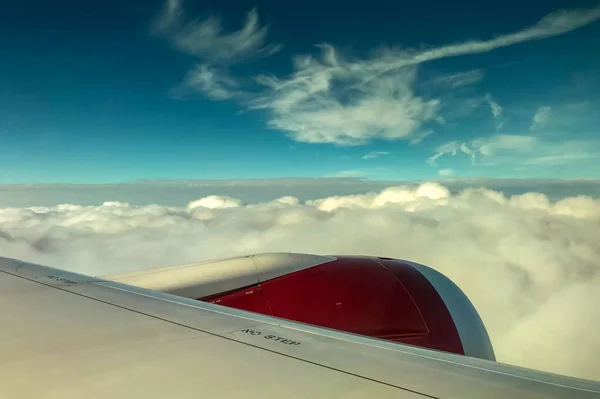
[[[105,277],[354,334],[495,360],[467,296],[414,262],[258,254]]]

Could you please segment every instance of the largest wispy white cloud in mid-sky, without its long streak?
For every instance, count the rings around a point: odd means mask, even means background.
[[[260,76],[267,88],[249,106],[270,111],[269,126],[299,142],[361,145],[373,138],[409,138],[435,121],[439,101],[416,96],[415,68],[374,77],[332,46],[319,58],[298,57],[290,79]]]

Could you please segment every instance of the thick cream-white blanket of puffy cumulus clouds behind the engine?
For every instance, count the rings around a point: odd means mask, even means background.
[[[0,209],[0,255],[92,275],[263,251],[414,260],[471,298],[499,361],[600,380],[600,199],[437,183],[301,201]]]

